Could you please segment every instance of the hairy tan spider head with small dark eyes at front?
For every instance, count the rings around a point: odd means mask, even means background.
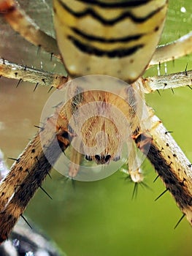
[[[117,127],[102,116],[90,118],[82,129],[85,159],[97,165],[109,164],[120,159],[120,135]]]

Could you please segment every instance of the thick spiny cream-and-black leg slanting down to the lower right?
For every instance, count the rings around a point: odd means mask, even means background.
[[[192,225],[191,163],[158,117],[153,115],[151,121],[150,131],[136,135],[134,140]]]

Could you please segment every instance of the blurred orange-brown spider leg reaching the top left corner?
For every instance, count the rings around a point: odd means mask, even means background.
[[[56,40],[40,30],[39,26],[26,15],[26,12],[20,9],[17,1],[1,0],[0,15],[4,15],[12,29],[20,33],[26,40],[61,59]]]

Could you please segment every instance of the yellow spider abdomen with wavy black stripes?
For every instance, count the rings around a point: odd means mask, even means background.
[[[53,3],[58,47],[71,77],[112,75],[131,83],[142,75],[161,37],[167,0]]]

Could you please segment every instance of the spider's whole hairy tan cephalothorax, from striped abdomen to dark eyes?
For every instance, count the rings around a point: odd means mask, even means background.
[[[107,91],[104,84],[112,83],[111,78],[96,76],[95,79],[99,79],[98,83],[102,82],[105,91],[74,89],[82,92],[72,96],[70,90],[73,85],[69,83],[70,99],[58,108],[56,126],[58,137],[67,131],[76,143],[82,140],[82,155],[95,160],[97,164],[104,164],[120,159],[123,143],[128,143],[131,136],[141,129],[142,111],[147,110],[147,107],[143,102],[142,91],[138,90],[139,83],[126,87],[122,84],[119,90],[112,93]]]

